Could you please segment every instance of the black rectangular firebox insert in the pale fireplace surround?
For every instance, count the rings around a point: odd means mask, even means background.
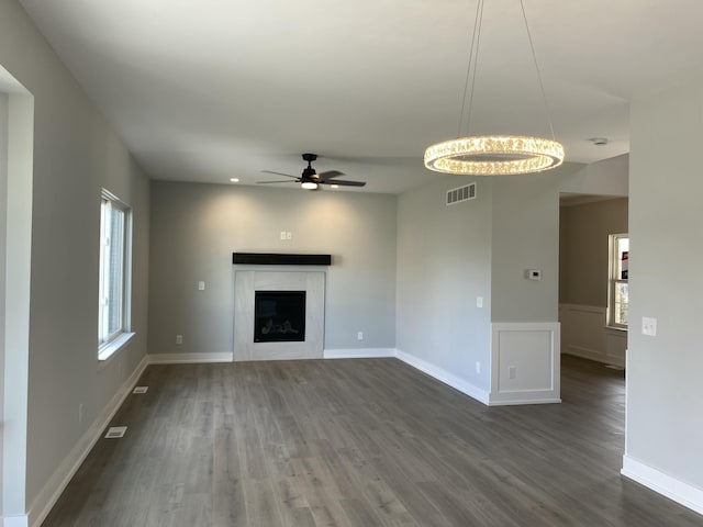
[[[305,291],[256,291],[255,343],[305,341]]]

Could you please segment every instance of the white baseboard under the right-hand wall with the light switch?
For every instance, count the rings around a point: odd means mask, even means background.
[[[623,468],[620,472],[625,478],[629,478],[691,511],[703,514],[703,490],[671,478],[628,456],[623,456]]]

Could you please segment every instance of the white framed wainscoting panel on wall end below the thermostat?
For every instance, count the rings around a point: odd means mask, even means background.
[[[489,405],[560,403],[559,323],[491,325]]]

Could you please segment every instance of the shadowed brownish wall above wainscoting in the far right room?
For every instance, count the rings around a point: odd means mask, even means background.
[[[607,306],[609,235],[627,233],[627,199],[562,206],[559,302]]]

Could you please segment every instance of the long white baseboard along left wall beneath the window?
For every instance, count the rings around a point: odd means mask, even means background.
[[[147,366],[148,360],[144,357],[130,378],[124,381],[122,386],[116,391],[108,405],[98,414],[92,425],[90,425],[80,439],[78,439],[76,446],[70,452],[68,452],[68,456],[64,458],[64,461],[46,481],[30,506],[30,514],[26,516],[27,522],[24,524],[12,523],[13,518],[5,518],[5,527],[26,527],[27,525],[38,527],[42,522],[44,522],[46,515],[48,515],[62,492],[64,492],[68,485],[70,479],[76,474],[81,463],[86,460],[92,447],[98,442],[102,436],[102,430],[104,430],[104,428],[110,424],[110,421],[112,421],[112,417],[114,417],[114,414],[120,410],[124,400],[130,395],[132,389],[136,385],[140,377],[144,373]],[[8,524],[8,519],[11,520],[10,524]]]

